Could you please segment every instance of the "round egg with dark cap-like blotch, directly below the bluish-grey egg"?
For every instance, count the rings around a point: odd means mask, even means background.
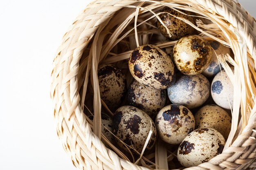
[[[162,108],[155,119],[157,133],[168,144],[180,144],[195,130],[195,119],[186,107],[171,104]]]

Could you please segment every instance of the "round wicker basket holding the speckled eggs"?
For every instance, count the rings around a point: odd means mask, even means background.
[[[147,0],[148,4],[159,3],[160,1]],[[175,4],[193,7],[200,15],[212,17],[218,16],[218,22],[226,24],[226,27],[219,25],[221,31],[229,31],[232,35],[243,39],[229,43],[232,50],[247,46],[247,58],[244,55],[236,56],[235,74],[239,79],[234,78],[234,87],[238,91],[238,100],[241,106],[243,121],[236,131],[237,135],[230,135],[231,146],[226,147],[222,154],[214,157],[209,162],[202,163],[197,167],[186,168],[188,170],[222,170],[222,169],[255,169],[256,167],[256,88],[255,88],[255,63],[256,63],[256,20],[240,6],[235,0],[162,0],[173,7],[181,7]],[[116,29],[117,26],[129,26],[129,22],[120,21],[115,28],[111,23],[124,20],[124,17],[136,18],[136,14],[144,9],[139,8],[146,3],[146,0],[93,0],[85,10],[76,18],[70,29],[65,33],[61,46],[57,50],[54,58],[54,68],[52,71],[51,97],[54,103],[54,117],[58,137],[61,139],[66,152],[72,156],[74,166],[81,170],[143,170],[145,166],[138,166],[125,160],[121,153],[106,148],[101,142],[106,141],[101,136],[100,114],[95,114],[90,121],[84,114],[84,101],[88,100],[88,107],[93,108],[94,113],[101,113],[101,106],[106,105],[100,100],[99,85],[97,82],[97,66],[99,63],[111,63],[113,60],[127,59],[127,53],[113,57],[110,49],[115,45],[115,41],[109,40],[104,44],[102,36],[106,29]],[[115,15],[122,9],[126,9],[123,15]],[[147,9],[149,10],[149,9]],[[146,15],[145,15],[146,16]],[[149,16],[149,15],[148,15]],[[215,20],[212,20],[215,23]],[[134,23],[133,25],[134,26]],[[104,32],[105,31],[105,32]],[[136,30],[137,31],[137,30]],[[136,33],[135,31],[135,33]],[[207,27],[204,28],[205,33]],[[137,32],[139,33],[139,31]],[[151,32],[152,33],[152,32]],[[224,34],[229,36],[228,34]],[[105,37],[108,36],[106,33]],[[119,36],[116,34],[115,36]],[[113,35],[113,40],[116,40]],[[134,36],[134,34],[133,34]],[[134,36],[135,37],[135,36]],[[225,40],[225,38],[223,38]],[[227,39],[227,37],[226,37]],[[95,41],[97,40],[97,41]],[[135,42],[136,38],[130,39]],[[143,40],[142,40],[143,42]],[[113,45],[114,44],[114,45]],[[98,50],[96,50],[96,48]],[[118,48],[116,49],[118,53]],[[236,54],[239,53],[239,50]],[[109,55],[110,54],[110,55]],[[110,56],[110,57],[109,57]],[[246,60],[247,59],[247,60]],[[122,66],[122,62],[117,62]],[[250,80],[248,83],[248,79]],[[238,83],[237,83],[238,82]],[[241,91],[241,92],[240,92]],[[93,99],[87,97],[88,93],[93,93]],[[92,102],[92,103],[90,103]],[[235,104],[234,104],[235,105]],[[108,109],[106,109],[108,110]],[[109,113],[110,110],[108,110]],[[239,112],[239,106],[234,106],[234,112]],[[234,119],[234,117],[233,117]],[[238,119],[238,118],[237,118]],[[234,123],[234,122],[232,122]],[[236,124],[233,124],[236,126]],[[233,127],[234,128],[234,127]],[[239,129],[243,129],[239,131]],[[94,131],[94,132],[93,132]],[[120,156],[121,155],[121,156]],[[161,162],[162,161],[162,162]],[[156,169],[168,168],[164,166],[164,160],[158,160],[160,165]]]

